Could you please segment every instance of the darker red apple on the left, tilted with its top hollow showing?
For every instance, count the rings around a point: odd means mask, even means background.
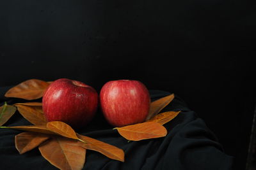
[[[93,87],[80,81],[61,78],[53,81],[42,99],[48,122],[61,121],[72,127],[82,127],[92,120],[98,105]]]

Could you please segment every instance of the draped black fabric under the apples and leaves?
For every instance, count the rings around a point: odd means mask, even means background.
[[[10,104],[17,102],[16,99],[3,97],[8,88],[0,89],[1,104],[8,100]],[[152,101],[168,94],[158,90],[150,91]],[[232,169],[233,157],[223,152],[216,136],[194,111],[189,110],[182,99],[176,96],[163,111],[178,110],[182,112],[164,125],[168,130],[166,137],[131,142],[127,142],[113,130],[98,111],[92,123],[77,132],[122,148],[125,152],[125,162],[111,160],[98,152],[88,150],[83,169]],[[15,113],[5,125],[30,125],[30,123],[20,114]],[[20,131],[12,129],[0,129],[1,170],[56,169],[40,155],[37,148],[19,155],[14,143],[14,136],[19,133]]]

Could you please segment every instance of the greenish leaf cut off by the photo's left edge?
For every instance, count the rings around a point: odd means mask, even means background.
[[[4,103],[4,105],[0,107],[0,126],[5,124],[16,110],[16,107]]]

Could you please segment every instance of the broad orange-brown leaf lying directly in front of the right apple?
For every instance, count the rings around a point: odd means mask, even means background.
[[[167,134],[165,127],[157,122],[144,122],[141,124],[127,125],[125,127],[116,127],[115,129],[121,136],[130,141],[161,138]]]

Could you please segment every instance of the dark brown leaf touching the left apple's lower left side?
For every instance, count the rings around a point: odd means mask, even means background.
[[[45,125],[47,123],[42,111],[42,106],[26,104],[15,104],[15,106],[18,108],[20,114],[31,122],[31,124]]]

